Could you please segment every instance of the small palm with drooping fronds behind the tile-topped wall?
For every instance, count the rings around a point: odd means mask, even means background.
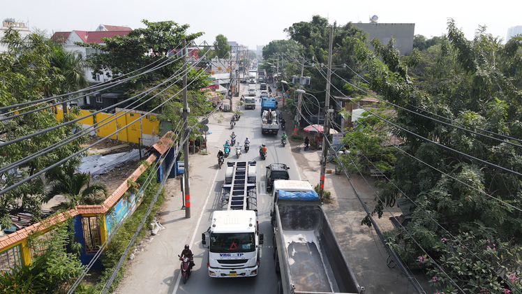
[[[45,203],[54,196],[63,195],[67,201],[54,205],[52,210],[70,210],[76,205],[101,204],[107,197],[107,187],[103,184],[89,184],[91,175],[86,173],[74,173],[72,168],[67,170],[53,170],[46,175],[50,182],[54,182],[47,193]]]

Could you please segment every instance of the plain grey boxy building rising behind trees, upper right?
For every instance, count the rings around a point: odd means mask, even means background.
[[[368,41],[378,38],[381,43],[386,45],[393,37],[395,39],[395,47],[401,52],[401,55],[408,54],[413,49],[415,24],[380,24],[378,22],[352,24],[368,33]],[[370,44],[368,46],[373,50],[373,46]]]

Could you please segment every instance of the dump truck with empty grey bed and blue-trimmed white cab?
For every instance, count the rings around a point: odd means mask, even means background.
[[[277,179],[272,197],[274,262],[281,273],[275,293],[364,293],[312,185]]]

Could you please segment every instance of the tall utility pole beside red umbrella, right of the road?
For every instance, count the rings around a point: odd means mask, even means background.
[[[328,140],[327,136],[330,134],[330,80],[331,80],[331,47],[334,43],[334,27],[330,27],[330,41],[328,45],[328,73],[327,73],[327,87],[325,99],[325,133],[322,139],[322,156],[321,156],[321,179],[319,185],[319,198],[322,200],[322,195],[325,190],[325,173],[328,156]]]

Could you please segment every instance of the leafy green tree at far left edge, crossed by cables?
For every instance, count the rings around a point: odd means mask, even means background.
[[[35,101],[47,95],[62,94],[67,91],[79,89],[80,84],[74,84],[63,74],[68,71],[67,64],[61,68],[57,64],[53,66],[50,56],[66,55],[61,47],[54,45],[48,38],[41,34],[29,34],[22,38],[17,31],[8,29],[1,39],[7,50],[0,54],[0,106],[13,105],[15,103]],[[70,65],[70,63],[68,63]],[[76,66],[76,65],[75,65]],[[27,112],[40,108],[42,104],[31,104],[24,108],[11,108],[6,117],[12,116],[15,111]],[[79,115],[77,108],[64,116],[62,122],[70,120],[73,115]],[[31,114],[8,119],[0,124],[0,133],[3,140],[10,141],[23,135],[56,126],[61,122],[54,117],[52,109],[36,111]],[[53,131],[36,135],[30,140],[16,142],[0,149],[1,166],[24,159],[27,156],[54,145],[64,138],[72,135],[80,129],[79,124],[69,124]],[[10,186],[47,166],[78,152],[80,145],[87,138],[82,136],[77,140],[59,147],[54,152],[38,156],[38,158],[23,163],[9,172],[3,173],[3,183]],[[80,159],[71,159],[64,163],[63,168],[73,168],[80,164]],[[38,221],[41,216],[40,207],[45,197],[45,182],[42,177],[35,177],[17,188],[3,193],[0,197],[0,223],[1,226],[11,226],[10,214],[27,212],[33,216],[33,221]]]

